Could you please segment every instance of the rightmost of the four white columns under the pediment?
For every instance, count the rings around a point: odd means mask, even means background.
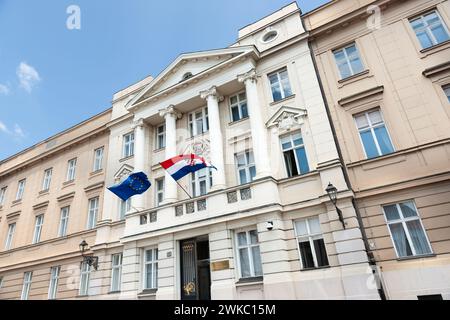
[[[252,69],[238,75],[238,81],[245,84],[247,108],[252,132],[253,155],[255,156],[256,179],[272,175],[267,150],[267,129],[261,115],[261,104],[258,100],[256,86],[256,70]]]

